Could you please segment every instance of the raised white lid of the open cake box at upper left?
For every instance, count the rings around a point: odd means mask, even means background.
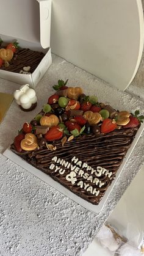
[[[51,0],[0,0],[0,34],[50,45]]]

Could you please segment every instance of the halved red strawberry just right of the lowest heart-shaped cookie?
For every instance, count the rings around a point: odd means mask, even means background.
[[[46,141],[56,141],[58,139],[61,139],[63,136],[63,129],[59,126],[53,126],[47,131],[45,134]]]

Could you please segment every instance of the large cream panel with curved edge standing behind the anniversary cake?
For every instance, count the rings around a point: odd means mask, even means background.
[[[143,42],[141,0],[52,1],[52,53],[120,90],[137,72]]]

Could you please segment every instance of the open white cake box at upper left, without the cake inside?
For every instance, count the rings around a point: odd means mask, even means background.
[[[45,57],[30,75],[0,70],[0,77],[18,83],[18,87],[29,84],[35,88],[52,62],[50,29],[51,0],[2,1],[0,35],[3,42],[17,40],[21,48],[43,52]]]

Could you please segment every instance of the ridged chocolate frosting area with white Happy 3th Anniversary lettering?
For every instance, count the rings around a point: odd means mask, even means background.
[[[139,127],[114,130],[111,133],[98,134],[97,136],[90,134],[67,141],[63,146],[61,141],[55,141],[52,145],[56,147],[56,151],[51,151],[46,145],[43,145],[42,148],[33,152],[23,151],[18,153],[13,144],[11,145],[11,150],[32,166],[50,175],[77,196],[82,197],[82,199],[87,200],[93,205],[98,205],[115,178],[117,170],[131,146],[138,129]],[[59,158],[59,163],[55,163],[54,157]],[[85,163],[85,165],[80,167],[77,165],[78,162],[74,163],[74,161],[71,161],[74,157],[81,161],[82,164]],[[72,166],[77,167],[77,180],[74,184],[66,178],[71,172],[71,166],[68,166],[68,164],[66,164],[67,167],[63,166],[64,162],[62,159],[65,163],[70,163]],[[61,169],[61,171],[56,171],[55,168],[50,169],[49,167],[52,164],[57,166],[59,170]],[[101,167],[103,170],[106,169],[107,172],[105,171],[100,176],[98,176],[99,174],[96,176],[94,170],[97,167]],[[87,189],[85,189],[86,186]],[[92,194],[94,189],[99,191],[97,196]]]

